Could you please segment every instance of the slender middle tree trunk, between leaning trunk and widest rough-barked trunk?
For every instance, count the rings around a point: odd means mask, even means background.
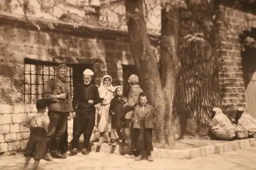
[[[164,122],[165,140],[172,146],[174,143],[174,124],[172,124],[173,101],[176,86],[176,77],[180,68],[177,52],[177,39],[179,28],[178,9],[172,7],[168,11],[161,11],[161,65],[160,75],[166,101],[166,114]]]

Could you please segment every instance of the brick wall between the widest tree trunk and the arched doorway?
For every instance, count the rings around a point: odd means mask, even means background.
[[[222,7],[225,31],[222,31],[220,57],[220,85],[222,91],[223,109],[234,109],[238,105],[246,107],[245,85],[243,80],[242,56],[239,34],[242,31],[256,27],[256,16]]]

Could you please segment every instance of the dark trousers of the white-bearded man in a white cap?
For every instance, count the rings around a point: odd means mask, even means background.
[[[73,122],[72,148],[79,147],[79,138],[83,134],[83,148],[88,149],[90,138],[95,126],[95,112],[88,110],[77,110]]]

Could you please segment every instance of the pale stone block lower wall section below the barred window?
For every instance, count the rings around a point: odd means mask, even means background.
[[[21,123],[36,113],[35,105],[0,105],[0,153],[26,147],[29,129]]]

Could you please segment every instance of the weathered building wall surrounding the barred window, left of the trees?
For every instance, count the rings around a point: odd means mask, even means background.
[[[35,105],[23,104],[24,59],[70,63],[91,63],[99,85],[105,74],[113,84],[122,84],[122,63],[134,64],[127,32],[30,20],[40,26],[13,17],[0,16],[0,153],[24,149],[29,129],[21,122],[36,112]],[[48,22],[49,24],[49,22]],[[156,48],[154,48],[156,50]],[[72,121],[69,122],[69,141]]]

